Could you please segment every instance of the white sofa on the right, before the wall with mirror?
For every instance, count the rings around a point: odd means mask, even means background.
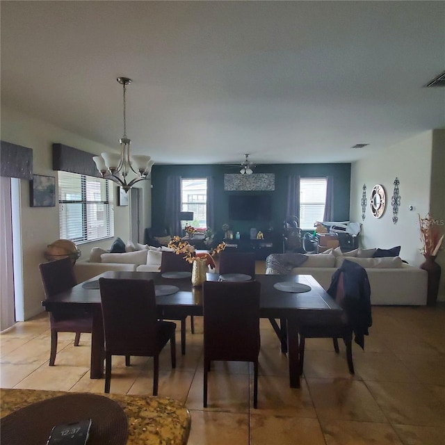
[[[366,258],[327,254],[307,254],[307,259],[298,267],[291,267],[293,274],[312,275],[323,289],[330,286],[332,274],[339,268],[345,259],[354,261],[366,269],[371,286],[372,305],[426,305],[427,296],[427,273],[425,270],[410,266],[402,261],[400,257]],[[289,257],[284,255],[300,254],[273,254],[273,260],[266,259],[266,273],[279,273],[278,268],[273,266]],[[272,257],[272,255],[270,255]]]

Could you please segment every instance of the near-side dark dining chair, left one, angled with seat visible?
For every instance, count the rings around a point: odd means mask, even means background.
[[[176,367],[176,324],[159,321],[153,280],[99,278],[105,339],[105,392],[110,392],[111,357],[153,357],[153,395],[158,394],[159,353],[170,341]]]

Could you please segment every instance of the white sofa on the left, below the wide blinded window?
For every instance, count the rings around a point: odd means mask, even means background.
[[[101,248],[92,248],[89,259],[76,261],[74,275],[80,283],[107,270],[159,272],[162,252],[160,248],[154,249],[144,248],[134,252],[110,253]]]

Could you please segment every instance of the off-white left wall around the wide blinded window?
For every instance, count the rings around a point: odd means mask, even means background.
[[[56,177],[52,170],[52,144],[70,145],[92,154],[111,151],[110,148],[93,142],[51,124],[23,115],[10,108],[1,108],[1,140],[33,149],[33,172],[35,175]],[[46,261],[44,250],[59,236],[58,204],[56,207],[30,207],[29,181],[20,181],[20,208],[24,266],[24,316],[25,320],[42,312],[44,293],[38,264]],[[114,207],[115,235],[124,241],[129,239],[129,207]],[[99,243],[78,245],[82,258],[89,257],[92,245],[109,248],[113,238]],[[17,252],[14,252],[17,254]]]

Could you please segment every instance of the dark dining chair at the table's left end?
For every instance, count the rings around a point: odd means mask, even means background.
[[[68,291],[77,284],[72,261],[68,257],[39,264],[39,270],[46,298]],[[92,314],[83,311],[67,311],[67,309],[52,310],[49,312],[49,327],[51,330],[49,366],[54,366],[58,332],[75,332],[74,346],[79,346],[81,333],[92,331]]]

